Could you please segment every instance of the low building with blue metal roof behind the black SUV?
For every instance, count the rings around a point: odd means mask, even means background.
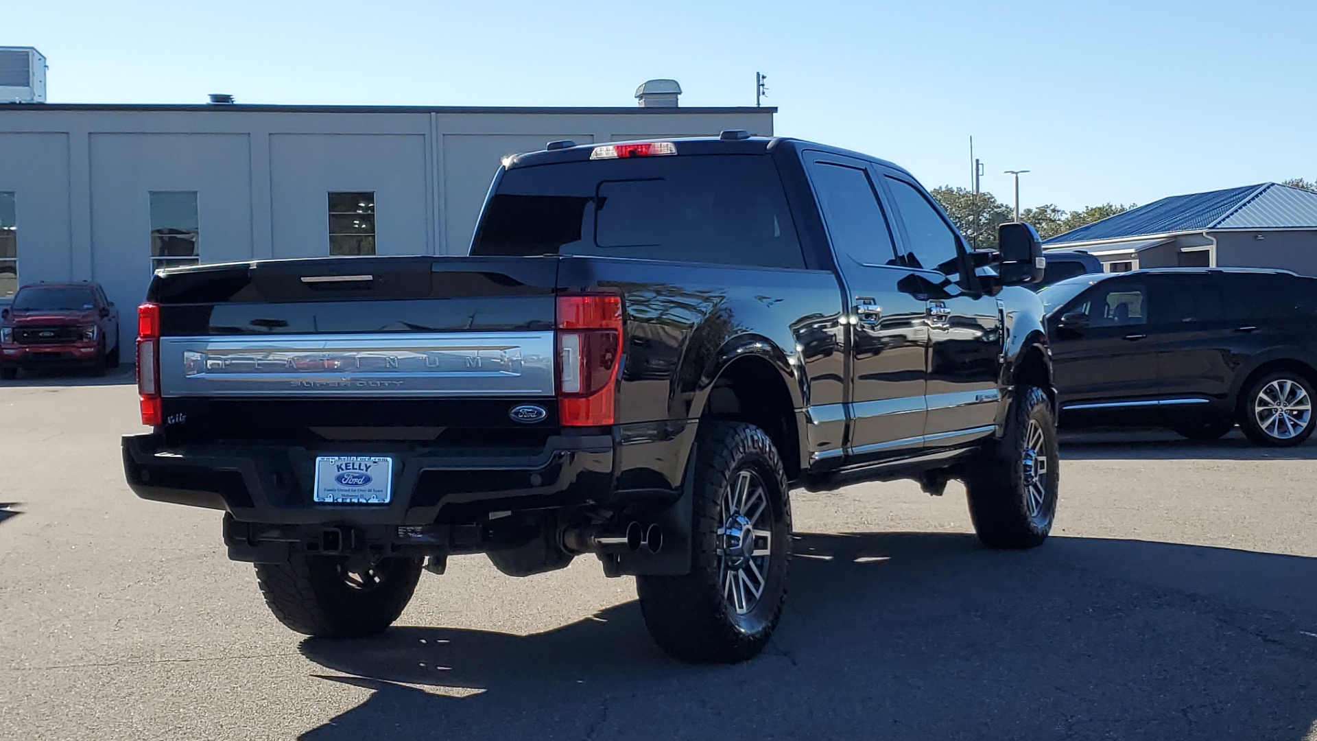
[[[1262,183],[1172,195],[1047,240],[1108,272],[1135,268],[1281,268],[1317,276],[1317,193]]]

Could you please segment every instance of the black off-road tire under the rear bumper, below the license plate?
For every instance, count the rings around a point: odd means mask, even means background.
[[[381,559],[381,580],[369,589],[349,585],[338,556],[294,555],[287,563],[255,564],[265,604],[279,622],[317,638],[362,638],[392,625],[411,601],[421,560]]]

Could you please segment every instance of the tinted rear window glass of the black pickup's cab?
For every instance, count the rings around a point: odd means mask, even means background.
[[[503,173],[471,254],[586,254],[803,268],[766,156],[676,156]]]

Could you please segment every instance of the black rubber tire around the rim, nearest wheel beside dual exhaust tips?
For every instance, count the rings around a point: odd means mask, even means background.
[[[759,654],[773,636],[786,599],[792,506],[786,473],[764,430],[741,422],[701,422],[686,496],[693,497],[691,568],[684,576],[637,576],[645,626],[658,647],[680,659],[734,663]],[[723,494],[749,471],[768,500],[761,521],[772,533],[763,589],[745,614],[724,599]]]

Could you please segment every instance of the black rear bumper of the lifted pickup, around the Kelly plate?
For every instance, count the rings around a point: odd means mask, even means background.
[[[166,447],[155,432],[122,439],[124,473],[138,497],[228,510],[237,522],[427,525],[445,505],[564,506],[603,498],[612,484],[612,436],[556,435],[539,451],[371,451],[394,458],[392,501],[325,505],[312,501],[317,452],[275,444]]]

